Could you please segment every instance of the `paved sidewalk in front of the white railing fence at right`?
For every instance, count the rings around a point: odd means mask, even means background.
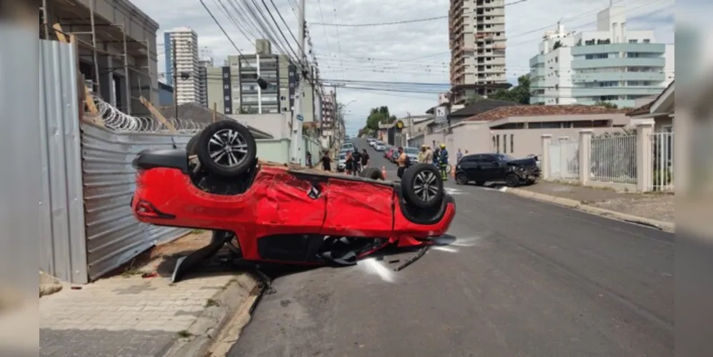
[[[532,186],[520,187],[527,191],[569,198],[589,206],[631,214],[657,221],[674,221],[674,195],[664,193],[626,193],[608,188],[569,185],[540,181]]]

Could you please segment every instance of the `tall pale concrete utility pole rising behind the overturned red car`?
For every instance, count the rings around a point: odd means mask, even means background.
[[[302,124],[304,122],[304,114],[302,114],[302,92],[304,91],[304,76],[307,73],[305,68],[306,61],[304,61],[304,0],[299,0],[299,16],[297,16],[297,26],[299,26],[299,31],[297,31],[299,44],[299,62],[297,63],[297,73],[299,74],[297,78],[297,90],[294,94],[294,118],[292,119],[292,141],[291,141],[291,161],[301,164],[302,157],[304,154],[301,152],[302,146]],[[295,120],[296,119],[296,120]]]

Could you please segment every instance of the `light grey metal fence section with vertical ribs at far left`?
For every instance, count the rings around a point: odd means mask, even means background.
[[[42,184],[16,189],[41,192],[39,268],[65,281],[86,283],[76,54],[56,41],[42,40],[39,47],[41,162],[26,165],[37,165],[27,172],[41,172]],[[17,139],[36,142],[36,137]]]

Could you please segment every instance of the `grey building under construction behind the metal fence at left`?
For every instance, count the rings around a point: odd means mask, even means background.
[[[43,6],[36,9],[40,24],[47,26],[40,27],[40,38],[56,40],[50,26],[59,24],[62,31],[74,33],[84,43],[78,48],[79,74],[89,90],[126,114],[149,115],[139,97],[154,103],[159,100],[159,24],[129,0],[42,2]],[[96,42],[96,49],[87,45],[92,42]]]

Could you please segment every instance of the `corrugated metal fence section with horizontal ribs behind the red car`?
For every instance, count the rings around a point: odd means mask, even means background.
[[[136,171],[131,166],[136,154],[149,148],[183,148],[189,139],[190,134],[115,133],[81,124],[86,256],[91,280],[156,243],[188,232],[139,223],[129,202],[136,188]]]

